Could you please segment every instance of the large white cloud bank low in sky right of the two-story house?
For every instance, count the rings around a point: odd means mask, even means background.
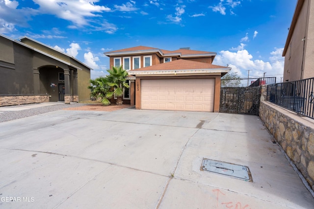
[[[275,48],[270,52],[270,62],[264,62],[263,60],[253,59],[253,56],[247,50],[238,50],[237,52],[220,51],[213,64],[231,67],[231,72],[237,72],[241,78],[247,78],[248,70],[250,70],[250,78],[263,77],[276,77],[276,81],[280,82],[284,72],[284,59],[281,57],[283,48]],[[253,80],[253,79],[252,79]],[[249,84],[251,80],[249,81]],[[247,85],[247,80],[242,81],[242,85]]]

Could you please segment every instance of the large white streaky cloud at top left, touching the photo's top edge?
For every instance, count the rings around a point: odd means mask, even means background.
[[[33,0],[37,3],[39,11],[43,14],[52,14],[58,18],[71,21],[72,23],[81,26],[87,25],[87,18],[98,17],[99,15],[94,13],[102,13],[111,11],[110,8],[105,6],[95,5],[94,2],[99,0]]]

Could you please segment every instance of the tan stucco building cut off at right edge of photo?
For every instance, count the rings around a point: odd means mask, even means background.
[[[314,1],[298,0],[283,51],[284,82],[314,77]]]

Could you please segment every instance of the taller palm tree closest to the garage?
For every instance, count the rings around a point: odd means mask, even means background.
[[[126,77],[128,76],[128,72],[122,69],[122,66],[119,68],[113,67],[110,70],[107,70],[109,75],[107,75],[107,85],[112,87],[111,91],[107,93],[107,98],[111,98],[113,95],[117,97],[116,105],[122,105],[123,100],[123,89],[129,89],[130,86],[126,83]]]

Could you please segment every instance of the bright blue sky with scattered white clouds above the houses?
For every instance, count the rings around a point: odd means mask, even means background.
[[[133,46],[216,52],[240,77],[283,77],[297,0],[0,0],[0,33],[28,36],[104,75],[103,53]],[[277,82],[278,82],[277,80]]]

